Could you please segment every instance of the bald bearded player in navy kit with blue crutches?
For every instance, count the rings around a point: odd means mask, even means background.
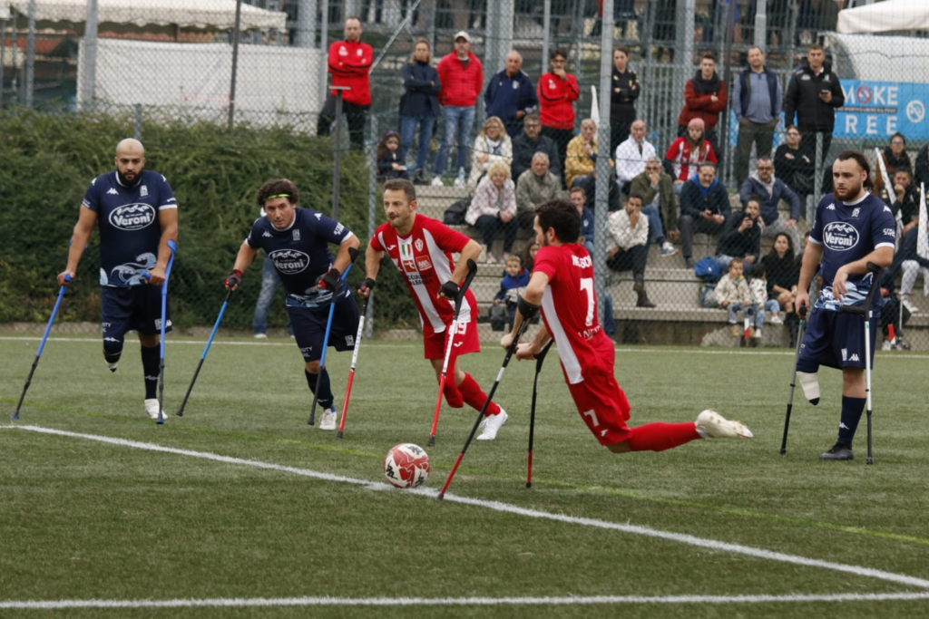
[[[100,229],[100,305],[103,358],[116,371],[126,331],[136,330],[142,348],[145,413],[158,419],[158,362],[161,337],[161,286],[171,258],[168,241],[177,242],[177,200],[162,174],[145,169],[145,148],[138,140],[116,145],[116,171],[90,181],[74,226],[68,265],[59,273],[67,286],[81,262],[94,226]],[[143,274],[148,273],[146,280]],[[164,332],[171,330],[165,312]],[[162,419],[167,419],[164,413]]]

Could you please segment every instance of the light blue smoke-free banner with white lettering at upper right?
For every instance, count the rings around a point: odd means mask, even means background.
[[[929,84],[843,80],[845,105],[836,110],[835,137],[929,137]]]

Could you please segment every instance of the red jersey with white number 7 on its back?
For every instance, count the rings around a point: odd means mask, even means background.
[[[548,276],[542,297],[545,327],[558,346],[558,357],[569,384],[581,382],[583,368],[612,368],[613,357],[603,359],[612,342],[596,316],[594,261],[581,245],[545,246],[535,255],[532,271]]]

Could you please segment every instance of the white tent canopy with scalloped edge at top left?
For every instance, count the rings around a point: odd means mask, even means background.
[[[98,23],[145,26],[177,25],[202,30],[231,30],[236,0],[98,0]],[[0,17],[29,14],[29,0],[0,0]],[[53,24],[82,24],[87,0],[36,0],[35,19]],[[242,30],[284,30],[286,13],[242,3]]]

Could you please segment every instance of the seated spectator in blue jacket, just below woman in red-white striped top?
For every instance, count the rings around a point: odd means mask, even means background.
[[[698,174],[681,189],[681,216],[677,226],[681,230],[681,244],[687,267],[693,268],[694,233],[718,234],[732,213],[726,187],[716,178],[713,163],[701,163]]]

